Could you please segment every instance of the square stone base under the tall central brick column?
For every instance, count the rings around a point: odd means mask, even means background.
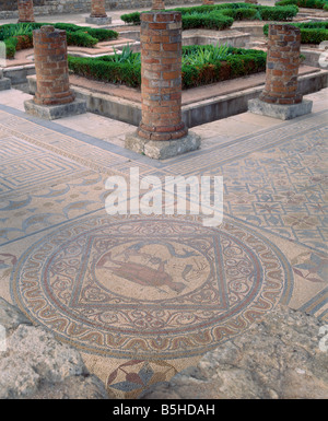
[[[136,131],[126,136],[125,148],[154,160],[166,160],[199,149],[200,142],[200,136],[192,131],[176,140],[148,140]]]

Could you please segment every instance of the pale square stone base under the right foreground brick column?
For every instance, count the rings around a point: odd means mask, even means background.
[[[292,118],[304,116],[312,112],[313,102],[303,100],[302,103],[291,105],[269,104],[261,100],[249,100],[248,110],[253,114],[279,118],[280,120],[291,120]]]

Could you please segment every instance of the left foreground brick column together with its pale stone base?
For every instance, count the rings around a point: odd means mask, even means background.
[[[26,113],[46,119],[86,112],[85,102],[70,90],[66,31],[42,26],[33,31],[36,94],[24,103]]]

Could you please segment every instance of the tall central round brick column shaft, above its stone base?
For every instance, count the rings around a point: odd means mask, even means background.
[[[183,138],[181,120],[181,14],[141,14],[142,120],[137,130],[148,140]]]

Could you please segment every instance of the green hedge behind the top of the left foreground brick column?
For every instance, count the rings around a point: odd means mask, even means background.
[[[118,37],[118,33],[115,31],[78,26],[71,23],[10,23],[0,26],[0,40],[3,40],[5,44],[7,58],[14,58],[17,49],[33,47],[32,31],[38,30],[44,25],[52,25],[58,30],[65,30],[67,32],[67,42],[70,46],[93,47],[102,40],[116,39]],[[30,43],[24,44],[25,37],[28,37]]]

